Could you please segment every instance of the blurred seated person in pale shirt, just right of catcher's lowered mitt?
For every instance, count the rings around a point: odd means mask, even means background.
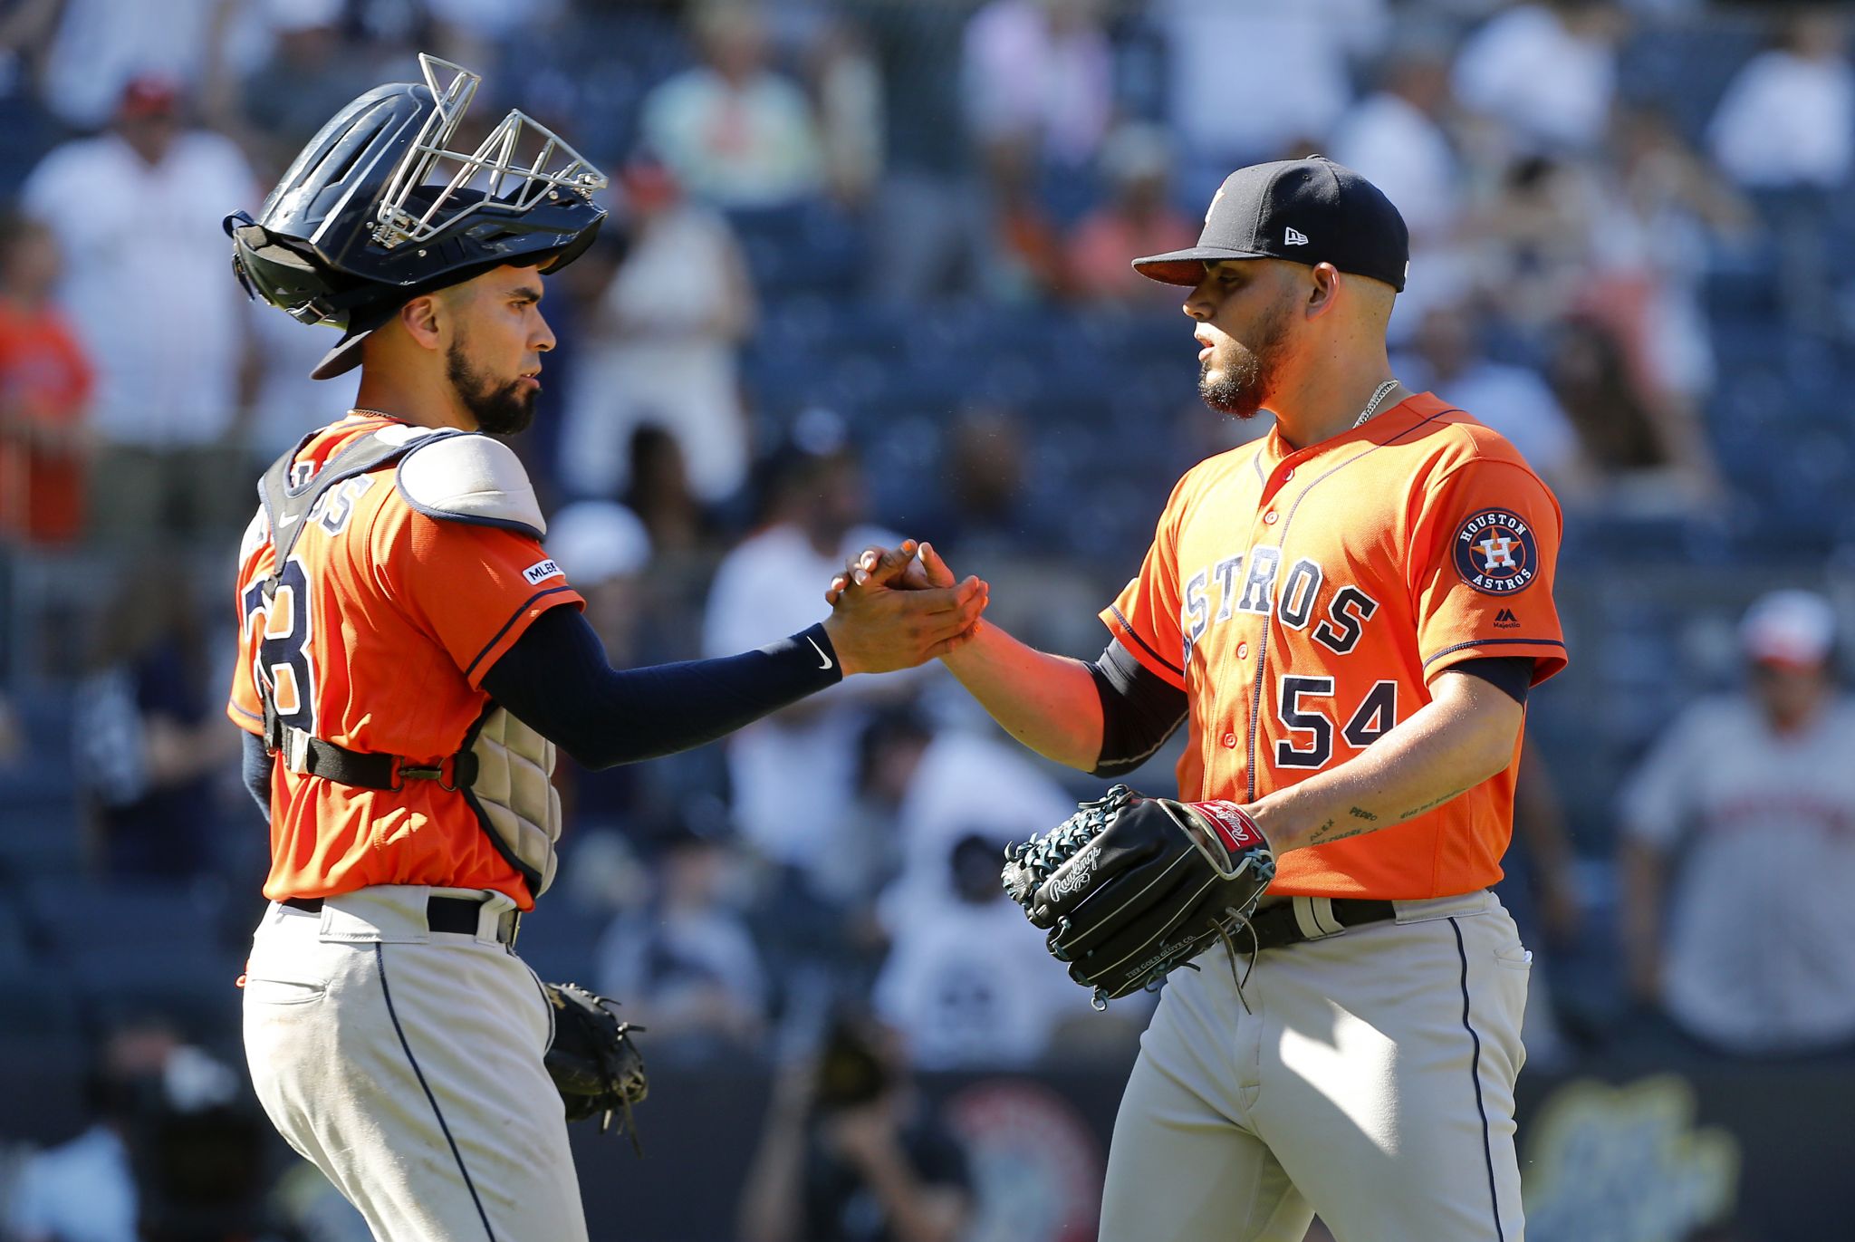
[[[653,1056],[686,1062],[755,1054],[768,986],[731,867],[740,850],[714,835],[720,806],[659,813],[634,835],[651,856],[651,902],[620,915],[599,938],[599,991],[623,997],[649,1027]]]

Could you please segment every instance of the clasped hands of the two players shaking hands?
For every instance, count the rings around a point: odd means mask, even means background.
[[[866,548],[831,579],[825,633],[844,676],[915,668],[970,642],[991,592],[978,577],[953,581],[929,544]]]

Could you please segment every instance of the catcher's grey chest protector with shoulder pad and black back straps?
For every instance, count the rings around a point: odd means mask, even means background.
[[[275,602],[282,566],[315,503],[332,486],[382,466],[395,468],[401,496],[430,518],[501,525],[536,538],[547,531],[519,459],[490,436],[386,427],[360,436],[297,486],[291,475],[301,447],[276,459],[258,483],[275,566],[260,585],[265,609]],[[540,897],[553,884],[560,841],[560,795],[551,780],[555,744],[497,702],[484,707],[456,754],[438,765],[419,765],[403,756],[349,750],[284,724],[275,687],[262,670],[258,696],[265,750],[291,772],[384,791],[403,789],[408,780],[434,780],[464,796],[495,850],[527,880],[531,895]]]

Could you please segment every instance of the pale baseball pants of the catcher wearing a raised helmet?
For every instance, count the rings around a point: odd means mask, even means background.
[[[271,904],[245,967],[245,1056],[289,1145],[380,1242],[584,1242],[560,1095],[542,1066],[553,1010],[495,939],[432,932],[427,897],[380,886],[321,913]]]

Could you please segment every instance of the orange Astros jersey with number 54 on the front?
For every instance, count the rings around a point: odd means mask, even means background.
[[[1180,796],[1254,802],[1345,763],[1465,659],[1566,666],[1558,501],[1514,446],[1421,394],[1323,444],[1193,468],[1102,620],[1191,702]],[[1501,878],[1506,770],[1373,834],[1284,854],[1273,893],[1449,897]]]

